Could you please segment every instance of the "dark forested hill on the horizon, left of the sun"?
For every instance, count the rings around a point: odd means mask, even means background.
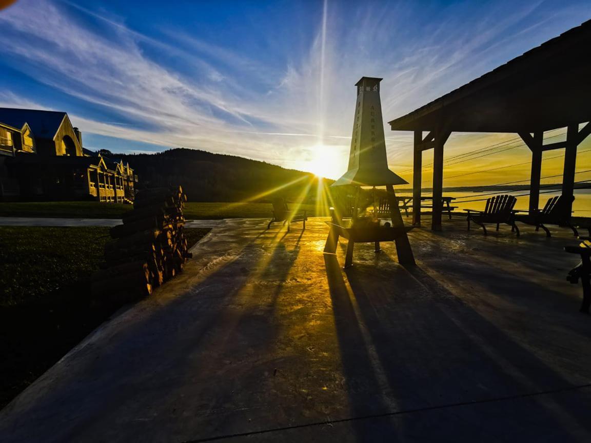
[[[266,162],[196,149],[170,149],[158,154],[113,154],[139,175],[138,189],[180,184],[191,201],[313,201],[318,178],[309,172]],[[322,179],[327,185],[333,180]],[[306,190],[306,187],[309,189]]]

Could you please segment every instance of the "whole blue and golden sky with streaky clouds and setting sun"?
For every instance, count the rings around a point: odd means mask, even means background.
[[[588,0],[17,0],[0,11],[0,106],[66,111],[88,149],[203,149],[337,178],[354,84],[382,77],[389,166],[411,183],[413,135],[389,120],[589,18]],[[454,133],[444,185],[527,179],[515,137]],[[543,177],[560,174],[560,155],[544,153]],[[590,160],[580,154],[577,170]]]

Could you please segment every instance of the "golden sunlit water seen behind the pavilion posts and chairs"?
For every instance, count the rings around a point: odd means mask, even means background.
[[[444,197],[456,197],[457,200],[452,201],[452,206],[456,206],[457,208],[454,211],[462,212],[463,209],[475,209],[475,210],[484,210],[486,206],[486,198],[493,197],[498,194],[511,194],[513,196],[518,196],[518,194],[525,194],[528,191],[478,191],[478,192],[444,192]],[[400,197],[411,197],[412,193],[396,193],[397,196]],[[483,196],[482,194],[489,194],[488,196]],[[559,196],[560,191],[553,191],[547,194],[540,194],[540,209],[544,207],[548,198]],[[430,197],[431,193],[423,193],[424,197]],[[462,198],[460,198],[462,197]],[[470,201],[470,200],[479,200],[479,201]],[[426,203],[429,204],[429,203]],[[530,204],[530,196],[519,196],[517,197],[517,203],[515,203],[515,209],[522,209],[527,210]],[[574,190],[574,203],[573,203],[573,216],[577,217],[591,217],[591,189],[576,189]]]

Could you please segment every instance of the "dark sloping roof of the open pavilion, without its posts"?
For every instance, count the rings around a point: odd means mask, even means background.
[[[591,20],[391,120],[394,131],[533,132],[591,118]]]

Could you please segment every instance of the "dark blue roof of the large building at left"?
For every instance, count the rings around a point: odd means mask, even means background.
[[[28,123],[35,138],[53,139],[66,116],[65,112],[59,111],[0,108],[0,122],[15,128],[22,128]]]

